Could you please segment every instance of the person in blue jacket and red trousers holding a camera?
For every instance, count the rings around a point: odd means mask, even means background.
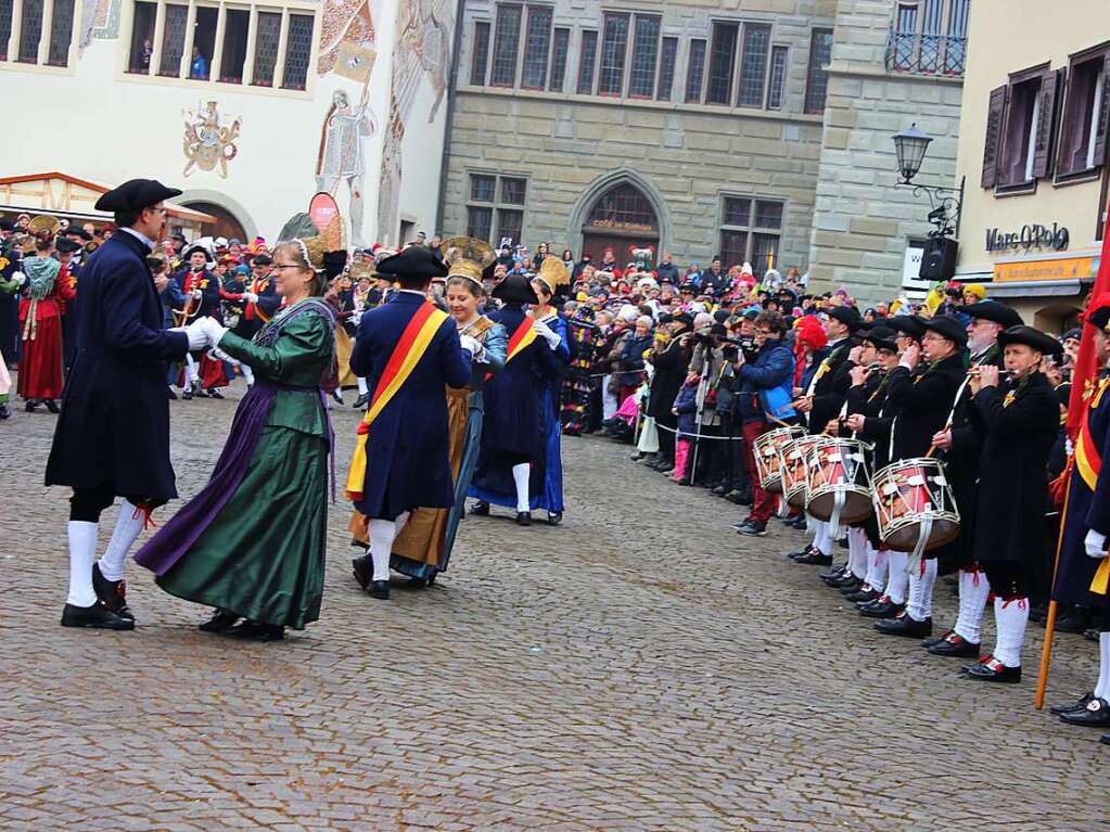
[[[777,312],[760,312],[755,319],[755,361],[736,351],[733,367],[740,379],[739,412],[744,424],[745,465],[751,483],[751,513],[737,529],[741,535],[764,536],[774,507],[771,496],[759,486],[755,442],[775,425],[797,417],[791,403],[794,353],[783,341],[788,329]],[[731,354],[731,353],[730,353]]]

